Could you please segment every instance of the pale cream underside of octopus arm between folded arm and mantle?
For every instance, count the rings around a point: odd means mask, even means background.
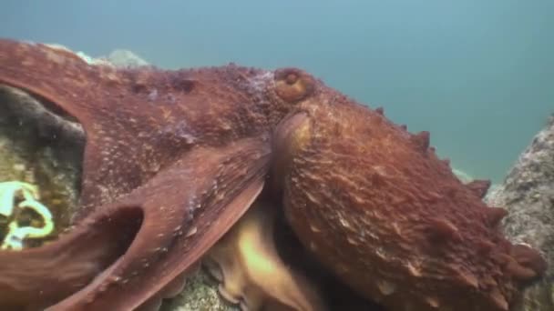
[[[242,310],[324,310],[317,288],[278,254],[276,208],[268,202],[252,206],[208,252],[209,271],[221,282],[221,296]]]

